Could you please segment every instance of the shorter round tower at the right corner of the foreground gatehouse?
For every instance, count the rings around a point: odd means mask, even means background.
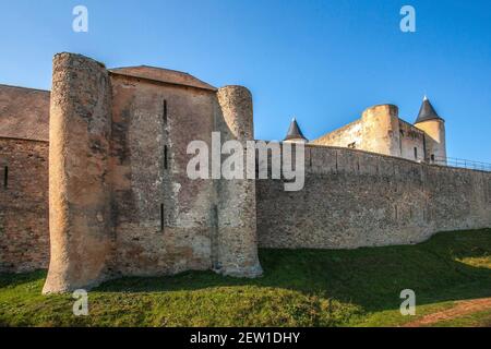
[[[217,125],[221,142],[237,140],[246,159],[247,141],[254,140],[252,96],[242,86],[225,86],[217,92],[220,115]],[[258,256],[255,181],[221,179],[217,185],[217,273],[256,277],[263,273]]]

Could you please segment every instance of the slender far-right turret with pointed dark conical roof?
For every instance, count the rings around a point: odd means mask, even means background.
[[[424,96],[415,127],[424,132],[424,158],[430,164],[446,165],[445,120]]]

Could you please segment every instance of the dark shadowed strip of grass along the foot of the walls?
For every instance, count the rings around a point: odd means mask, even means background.
[[[412,289],[418,305],[491,297],[491,229],[443,232],[417,245],[358,250],[260,250],[265,270],[256,279],[187,272],[168,277],[124,277],[95,292],[195,291],[209,288],[280,288],[337,299],[366,311],[398,309],[400,291]],[[484,258],[474,266],[468,258]],[[464,261],[464,262],[462,262]],[[2,276],[0,287],[46,273]]]

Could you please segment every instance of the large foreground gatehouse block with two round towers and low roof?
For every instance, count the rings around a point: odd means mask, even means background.
[[[45,293],[121,275],[262,273],[254,181],[194,181],[191,141],[252,140],[252,96],[148,67],[53,60]]]

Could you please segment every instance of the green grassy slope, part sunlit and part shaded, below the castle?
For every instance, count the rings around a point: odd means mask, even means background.
[[[352,251],[262,250],[262,278],[192,272],[123,278],[89,292],[89,316],[70,296],[40,294],[45,272],[0,276],[0,325],[393,326],[399,292],[416,291],[417,316],[454,300],[491,297],[491,229],[445,232],[409,246]],[[491,324],[491,312],[445,325]]]

